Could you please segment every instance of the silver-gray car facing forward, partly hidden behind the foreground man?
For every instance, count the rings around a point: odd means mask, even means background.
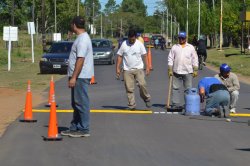
[[[95,64],[115,64],[115,46],[108,39],[92,39]]]

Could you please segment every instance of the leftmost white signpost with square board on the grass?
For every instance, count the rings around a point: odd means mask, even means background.
[[[11,41],[18,41],[18,28],[12,26],[3,27],[3,40],[9,41],[8,47],[8,71],[11,68]]]

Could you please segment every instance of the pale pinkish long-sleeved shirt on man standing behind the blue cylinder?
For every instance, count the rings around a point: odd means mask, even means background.
[[[186,43],[182,48],[175,44],[168,54],[168,66],[173,66],[177,74],[193,73],[193,67],[198,68],[198,56],[193,45]]]

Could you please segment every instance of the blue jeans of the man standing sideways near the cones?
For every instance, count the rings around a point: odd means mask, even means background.
[[[70,130],[89,132],[90,104],[88,85],[90,79],[78,78],[76,85],[71,88],[71,105],[74,109]]]

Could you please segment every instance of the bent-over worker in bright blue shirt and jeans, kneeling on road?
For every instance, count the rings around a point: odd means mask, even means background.
[[[201,103],[206,98],[205,114],[208,116],[221,117],[223,112],[228,109],[230,95],[225,85],[215,77],[204,77],[198,84]],[[225,116],[225,112],[224,112]]]

